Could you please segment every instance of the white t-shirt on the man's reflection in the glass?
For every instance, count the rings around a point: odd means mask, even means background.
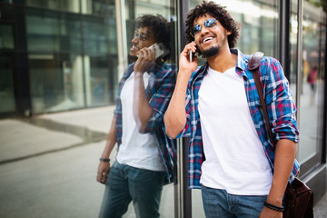
[[[144,87],[150,75],[144,73]],[[123,135],[122,144],[116,156],[118,163],[136,168],[163,171],[163,162],[159,154],[154,134],[140,134],[133,116],[134,72],[125,81],[122,92]]]

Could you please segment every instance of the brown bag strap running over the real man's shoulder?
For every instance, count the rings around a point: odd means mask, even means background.
[[[259,66],[260,66],[262,58],[263,58],[263,53],[262,52],[256,52],[254,54],[251,54],[251,56],[249,58],[249,62],[248,62],[248,69],[253,72],[253,79],[254,79],[255,86],[257,88],[257,91],[258,91],[258,94],[259,94],[259,97],[260,97],[260,103],[262,104],[262,107],[263,107],[264,120],[265,120],[265,123],[266,123],[266,127],[267,127],[267,130],[268,130],[269,137],[270,137],[270,139],[272,141],[272,144],[273,144],[273,147],[274,147],[275,142],[274,142],[274,139],[272,138],[272,128],[271,128],[271,125],[269,123],[267,106],[265,104],[264,97],[263,97],[263,87],[262,87],[262,84],[260,82],[259,73],[258,73]]]

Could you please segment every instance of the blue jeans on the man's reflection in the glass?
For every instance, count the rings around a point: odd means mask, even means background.
[[[122,217],[133,201],[136,217],[159,217],[163,172],[134,168],[115,162],[105,181],[99,217]]]

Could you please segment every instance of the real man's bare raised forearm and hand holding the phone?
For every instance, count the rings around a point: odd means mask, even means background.
[[[177,74],[176,86],[173,91],[173,97],[168,105],[167,111],[163,116],[166,134],[175,138],[186,124],[185,97],[187,84],[193,71],[197,67],[197,57],[194,56],[193,62],[188,60],[189,50],[195,53],[195,43],[185,46],[180,55],[179,71]]]

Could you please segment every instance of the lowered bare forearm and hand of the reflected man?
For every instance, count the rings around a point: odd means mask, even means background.
[[[115,126],[115,117],[113,118],[109,134],[106,140],[106,144],[104,147],[104,152],[101,155],[102,158],[109,158],[111,152],[113,151],[114,144],[116,143],[116,126]],[[96,181],[99,183],[105,183],[107,174],[110,170],[109,162],[100,162],[98,166],[98,171],[96,175]]]

